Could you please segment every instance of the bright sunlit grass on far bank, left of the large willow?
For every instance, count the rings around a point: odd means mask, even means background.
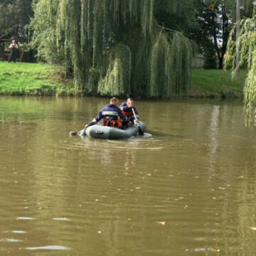
[[[48,64],[0,62],[0,95],[68,95],[72,89]]]

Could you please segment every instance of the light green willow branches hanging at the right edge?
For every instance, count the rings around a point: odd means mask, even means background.
[[[235,41],[235,28],[230,33],[228,41],[228,50],[225,55],[225,68],[230,65],[233,75],[238,68],[247,66],[248,73],[245,82],[245,112],[246,125],[250,125],[254,120],[256,125],[256,16],[253,18],[245,18],[240,22],[241,31],[239,38]],[[235,64],[235,56],[237,49],[240,52],[239,67]]]

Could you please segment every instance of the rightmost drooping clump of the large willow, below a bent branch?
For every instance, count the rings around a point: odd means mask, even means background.
[[[161,31],[151,50],[150,94],[186,95],[191,81],[191,43],[181,33]]]

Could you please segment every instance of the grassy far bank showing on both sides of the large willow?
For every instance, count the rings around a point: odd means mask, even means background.
[[[48,64],[0,62],[0,95],[74,95],[71,81]],[[245,71],[232,80],[223,70],[193,70],[190,97],[241,97]]]

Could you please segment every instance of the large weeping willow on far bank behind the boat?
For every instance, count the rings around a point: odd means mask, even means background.
[[[186,2],[38,0],[33,45],[44,60],[72,67],[78,94],[183,95],[191,84],[191,42],[159,26],[155,13],[171,15]]]

